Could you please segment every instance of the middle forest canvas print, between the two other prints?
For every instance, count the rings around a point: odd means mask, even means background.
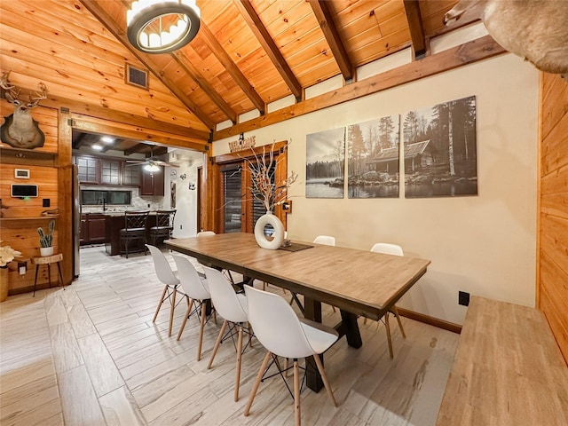
[[[398,197],[399,116],[347,127],[349,198]]]

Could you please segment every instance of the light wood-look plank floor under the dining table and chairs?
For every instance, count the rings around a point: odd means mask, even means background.
[[[234,402],[233,343],[223,343],[213,368],[207,369],[221,320],[206,324],[199,362],[197,319],[187,322],[176,341],[185,302],[177,306],[171,337],[169,304],[152,323],[163,287],[151,256],[127,260],[106,256],[100,247],[84,248],[81,256],[81,276],[65,291],[10,296],[0,304],[0,424],[294,424],[293,400],[278,376],[261,383],[250,415],[243,415],[264,357],[256,340],[243,354],[241,398]],[[269,289],[282,294],[280,288]],[[324,323],[334,325],[338,319],[339,313],[324,305]],[[436,422],[459,336],[402,321],[406,340],[396,321],[391,325],[394,359],[389,358],[383,324],[364,325],[362,319],[359,350],[343,338],[326,352],[326,371],[339,407],[325,390],[305,389],[304,425]]]

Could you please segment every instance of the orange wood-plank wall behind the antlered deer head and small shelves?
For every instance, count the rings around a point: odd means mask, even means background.
[[[13,106],[2,99],[0,106],[3,114],[12,114]],[[2,227],[0,240],[2,245],[8,245],[20,251],[22,257],[9,265],[9,293],[14,294],[23,288],[34,284],[35,269],[29,259],[40,256],[38,226],[46,230],[51,217],[41,217],[43,210],[59,209],[59,184],[56,158],[58,155],[58,111],[52,108],[37,106],[32,110],[32,116],[39,123],[45,135],[42,147],[33,150],[16,150],[11,146],[0,143],[2,157],[0,162],[0,198],[7,209],[2,210]],[[29,170],[29,179],[16,178],[14,170]],[[11,185],[37,185],[36,198],[14,198],[11,196]],[[50,206],[43,207],[43,200],[49,200]],[[59,252],[59,217],[55,218],[53,233],[53,248]],[[26,262],[27,272],[20,275],[17,262]],[[55,270],[53,270],[55,272]],[[57,275],[52,274],[55,281]],[[47,270],[42,268],[38,277],[39,283],[47,282]]]

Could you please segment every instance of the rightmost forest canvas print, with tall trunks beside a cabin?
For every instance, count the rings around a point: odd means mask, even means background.
[[[406,113],[406,198],[477,195],[476,98]]]

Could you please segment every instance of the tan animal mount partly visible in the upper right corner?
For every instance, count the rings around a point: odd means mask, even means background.
[[[451,25],[466,13],[481,18],[507,51],[568,80],[568,1],[461,0],[444,22]]]

